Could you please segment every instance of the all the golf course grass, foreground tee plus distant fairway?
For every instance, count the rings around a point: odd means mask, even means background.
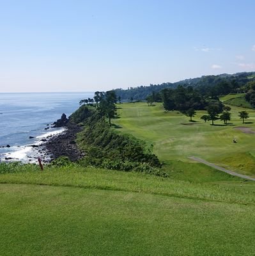
[[[224,100],[224,99],[223,99]],[[254,255],[255,110],[242,124],[118,104],[112,129],[143,140],[169,177],[79,164],[0,165],[0,255]],[[244,127],[244,128],[243,128]],[[233,139],[236,143],[233,143]]]

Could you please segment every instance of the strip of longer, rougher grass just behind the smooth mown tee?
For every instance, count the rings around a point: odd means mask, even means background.
[[[201,164],[197,164],[203,175]],[[189,174],[187,174],[189,175]],[[197,173],[199,175],[199,173]],[[206,173],[206,175],[208,175]],[[38,184],[87,189],[104,189],[150,193],[152,195],[175,196],[215,202],[255,204],[254,182],[247,182],[220,171],[212,171],[211,179],[204,182],[189,182],[164,179],[142,173],[127,173],[95,168],[49,168],[43,172],[24,170],[3,173],[0,183]],[[214,182],[210,181],[214,180]]]

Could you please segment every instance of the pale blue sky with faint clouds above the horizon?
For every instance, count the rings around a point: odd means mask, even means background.
[[[255,1],[1,1],[0,92],[255,70]]]

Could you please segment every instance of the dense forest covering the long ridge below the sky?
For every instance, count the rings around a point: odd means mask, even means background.
[[[242,72],[236,74],[220,74],[217,76],[202,76],[192,79],[185,79],[176,83],[150,84],[150,86],[138,86],[123,90],[121,88],[114,90],[117,97],[123,101],[145,100],[152,93],[161,92],[163,89],[175,89],[178,86],[184,88],[196,88],[197,92],[205,97],[216,97],[228,93],[247,93],[251,90],[251,84],[255,81],[255,72]],[[247,100],[253,100],[255,93],[250,92]],[[255,100],[254,100],[255,101]],[[255,105],[255,102],[254,102]]]

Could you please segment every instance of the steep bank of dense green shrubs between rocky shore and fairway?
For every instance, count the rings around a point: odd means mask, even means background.
[[[98,109],[81,106],[72,114],[71,120],[82,125],[82,131],[77,134],[79,148],[85,152],[79,161],[82,166],[167,176],[160,170],[158,157],[143,141],[112,130]]]

